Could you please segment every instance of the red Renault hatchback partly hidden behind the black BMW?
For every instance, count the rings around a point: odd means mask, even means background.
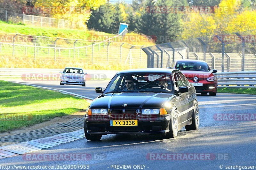
[[[213,75],[217,70],[211,70],[208,64],[200,60],[176,60],[172,64],[173,69],[180,70],[194,85],[197,93],[216,96],[217,78]]]

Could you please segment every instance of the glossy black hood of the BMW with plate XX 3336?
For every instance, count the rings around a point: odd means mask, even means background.
[[[90,108],[160,108],[172,96],[172,93],[109,93],[93,100]]]

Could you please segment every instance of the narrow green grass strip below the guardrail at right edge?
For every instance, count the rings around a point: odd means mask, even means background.
[[[236,94],[256,94],[256,88],[232,88],[224,87],[218,88],[217,92],[219,93],[236,93]]]

